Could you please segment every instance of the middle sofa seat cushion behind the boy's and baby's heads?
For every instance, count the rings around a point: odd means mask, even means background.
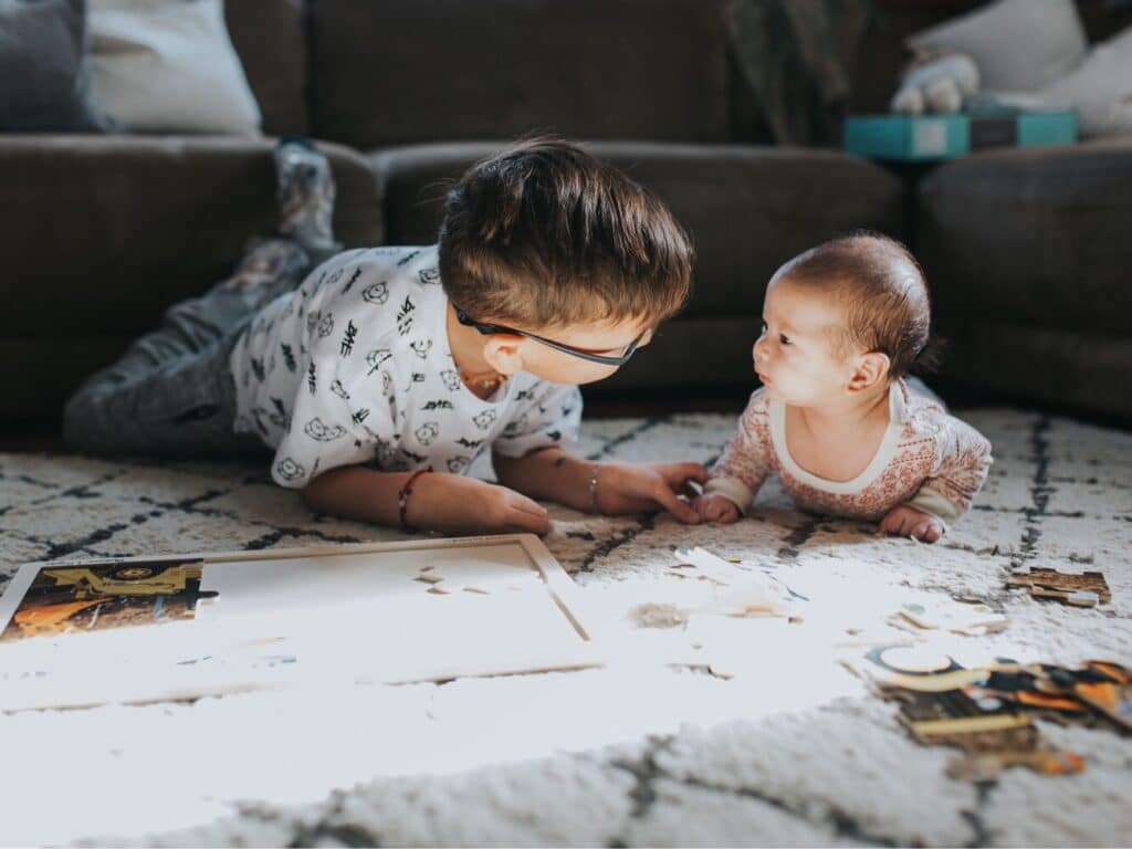
[[[374,154],[387,241],[435,241],[447,187],[501,144]],[[687,316],[761,315],[767,280],[792,256],[861,228],[901,235],[902,183],[856,157],[738,145],[597,142],[588,148],[655,191],[691,232],[696,265]]]

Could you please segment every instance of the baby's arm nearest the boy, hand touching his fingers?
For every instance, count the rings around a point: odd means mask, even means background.
[[[739,417],[739,428],[712,466],[704,494],[693,506],[707,522],[730,524],[746,509],[770,473],[766,402],[762,389]]]

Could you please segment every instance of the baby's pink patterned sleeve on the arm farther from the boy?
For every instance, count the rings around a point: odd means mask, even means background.
[[[994,461],[986,437],[970,424],[941,414],[935,469],[908,504],[946,524],[970,509]]]

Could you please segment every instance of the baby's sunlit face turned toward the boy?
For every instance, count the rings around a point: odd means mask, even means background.
[[[835,341],[844,323],[844,309],[827,293],[789,277],[773,278],[754,348],[755,372],[767,397],[795,406],[843,397],[852,363]]]

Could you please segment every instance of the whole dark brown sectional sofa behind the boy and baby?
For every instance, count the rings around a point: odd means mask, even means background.
[[[770,274],[871,228],[921,254],[953,340],[946,378],[1132,415],[1132,319],[1118,309],[1132,144],[983,154],[918,188],[837,152],[755,144],[719,6],[239,0],[226,15],[265,134],[325,143],[349,246],[431,241],[445,181],[532,130],[585,140],[671,205],[697,246],[694,298],[589,392],[739,403]],[[271,145],[0,137],[5,427],[57,426],[86,374],[271,231]]]

